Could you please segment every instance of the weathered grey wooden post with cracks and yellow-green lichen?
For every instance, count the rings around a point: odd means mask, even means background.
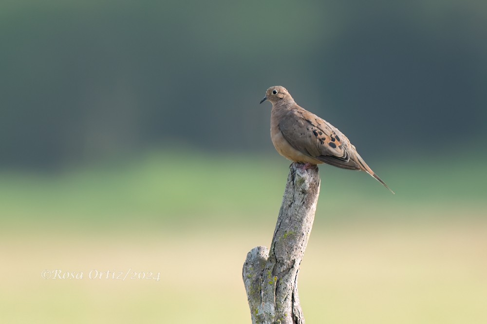
[[[247,253],[243,279],[252,324],[303,324],[298,275],[315,218],[319,195],[318,167],[293,163],[270,250]]]

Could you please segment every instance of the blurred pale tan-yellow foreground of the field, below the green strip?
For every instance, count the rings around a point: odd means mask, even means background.
[[[312,233],[301,265],[309,323],[484,324],[487,222],[366,224]],[[2,236],[3,323],[249,323],[246,252],[271,228]],[[98,271],[161,272],[160,281],[90,279]],[[44,269],[83,271],[42,279]]]

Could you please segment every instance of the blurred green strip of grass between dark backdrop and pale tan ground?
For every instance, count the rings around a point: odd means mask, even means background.
[[[364,172],[320,167],[318,214],[334,220],[485,211],[483,162],[370,162],[396,192]],[[0,172],[0,214],[12,225],[45,223],[103,228],[133,216],[159,224],[260,220],[281,204],[288,163],[280,157],[152,153],[56,174]],[[345,209],[344,209],[344,205]],[[273,217],[271,220],[274,221]]]

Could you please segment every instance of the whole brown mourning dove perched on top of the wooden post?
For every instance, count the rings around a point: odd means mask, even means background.
[[[265,100],[272,103],[271,139],[279,154],[305,163],[305,169],[328,163],[338,168],[365,171],[391,190],[358,155],[347,136],[300,107],[284,87],[267,89],[260,103]]]

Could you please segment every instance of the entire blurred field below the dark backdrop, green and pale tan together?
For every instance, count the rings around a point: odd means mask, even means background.
[[[288,164],[174,160],[0,173],[1,322],[249,323],[241,268],[270,244]],[[365,173],[320,168],[299,283],[308,323],[487,323],[480,163],[371,164],[396,195]],[[160,280],[89,278],[129,269]]]

